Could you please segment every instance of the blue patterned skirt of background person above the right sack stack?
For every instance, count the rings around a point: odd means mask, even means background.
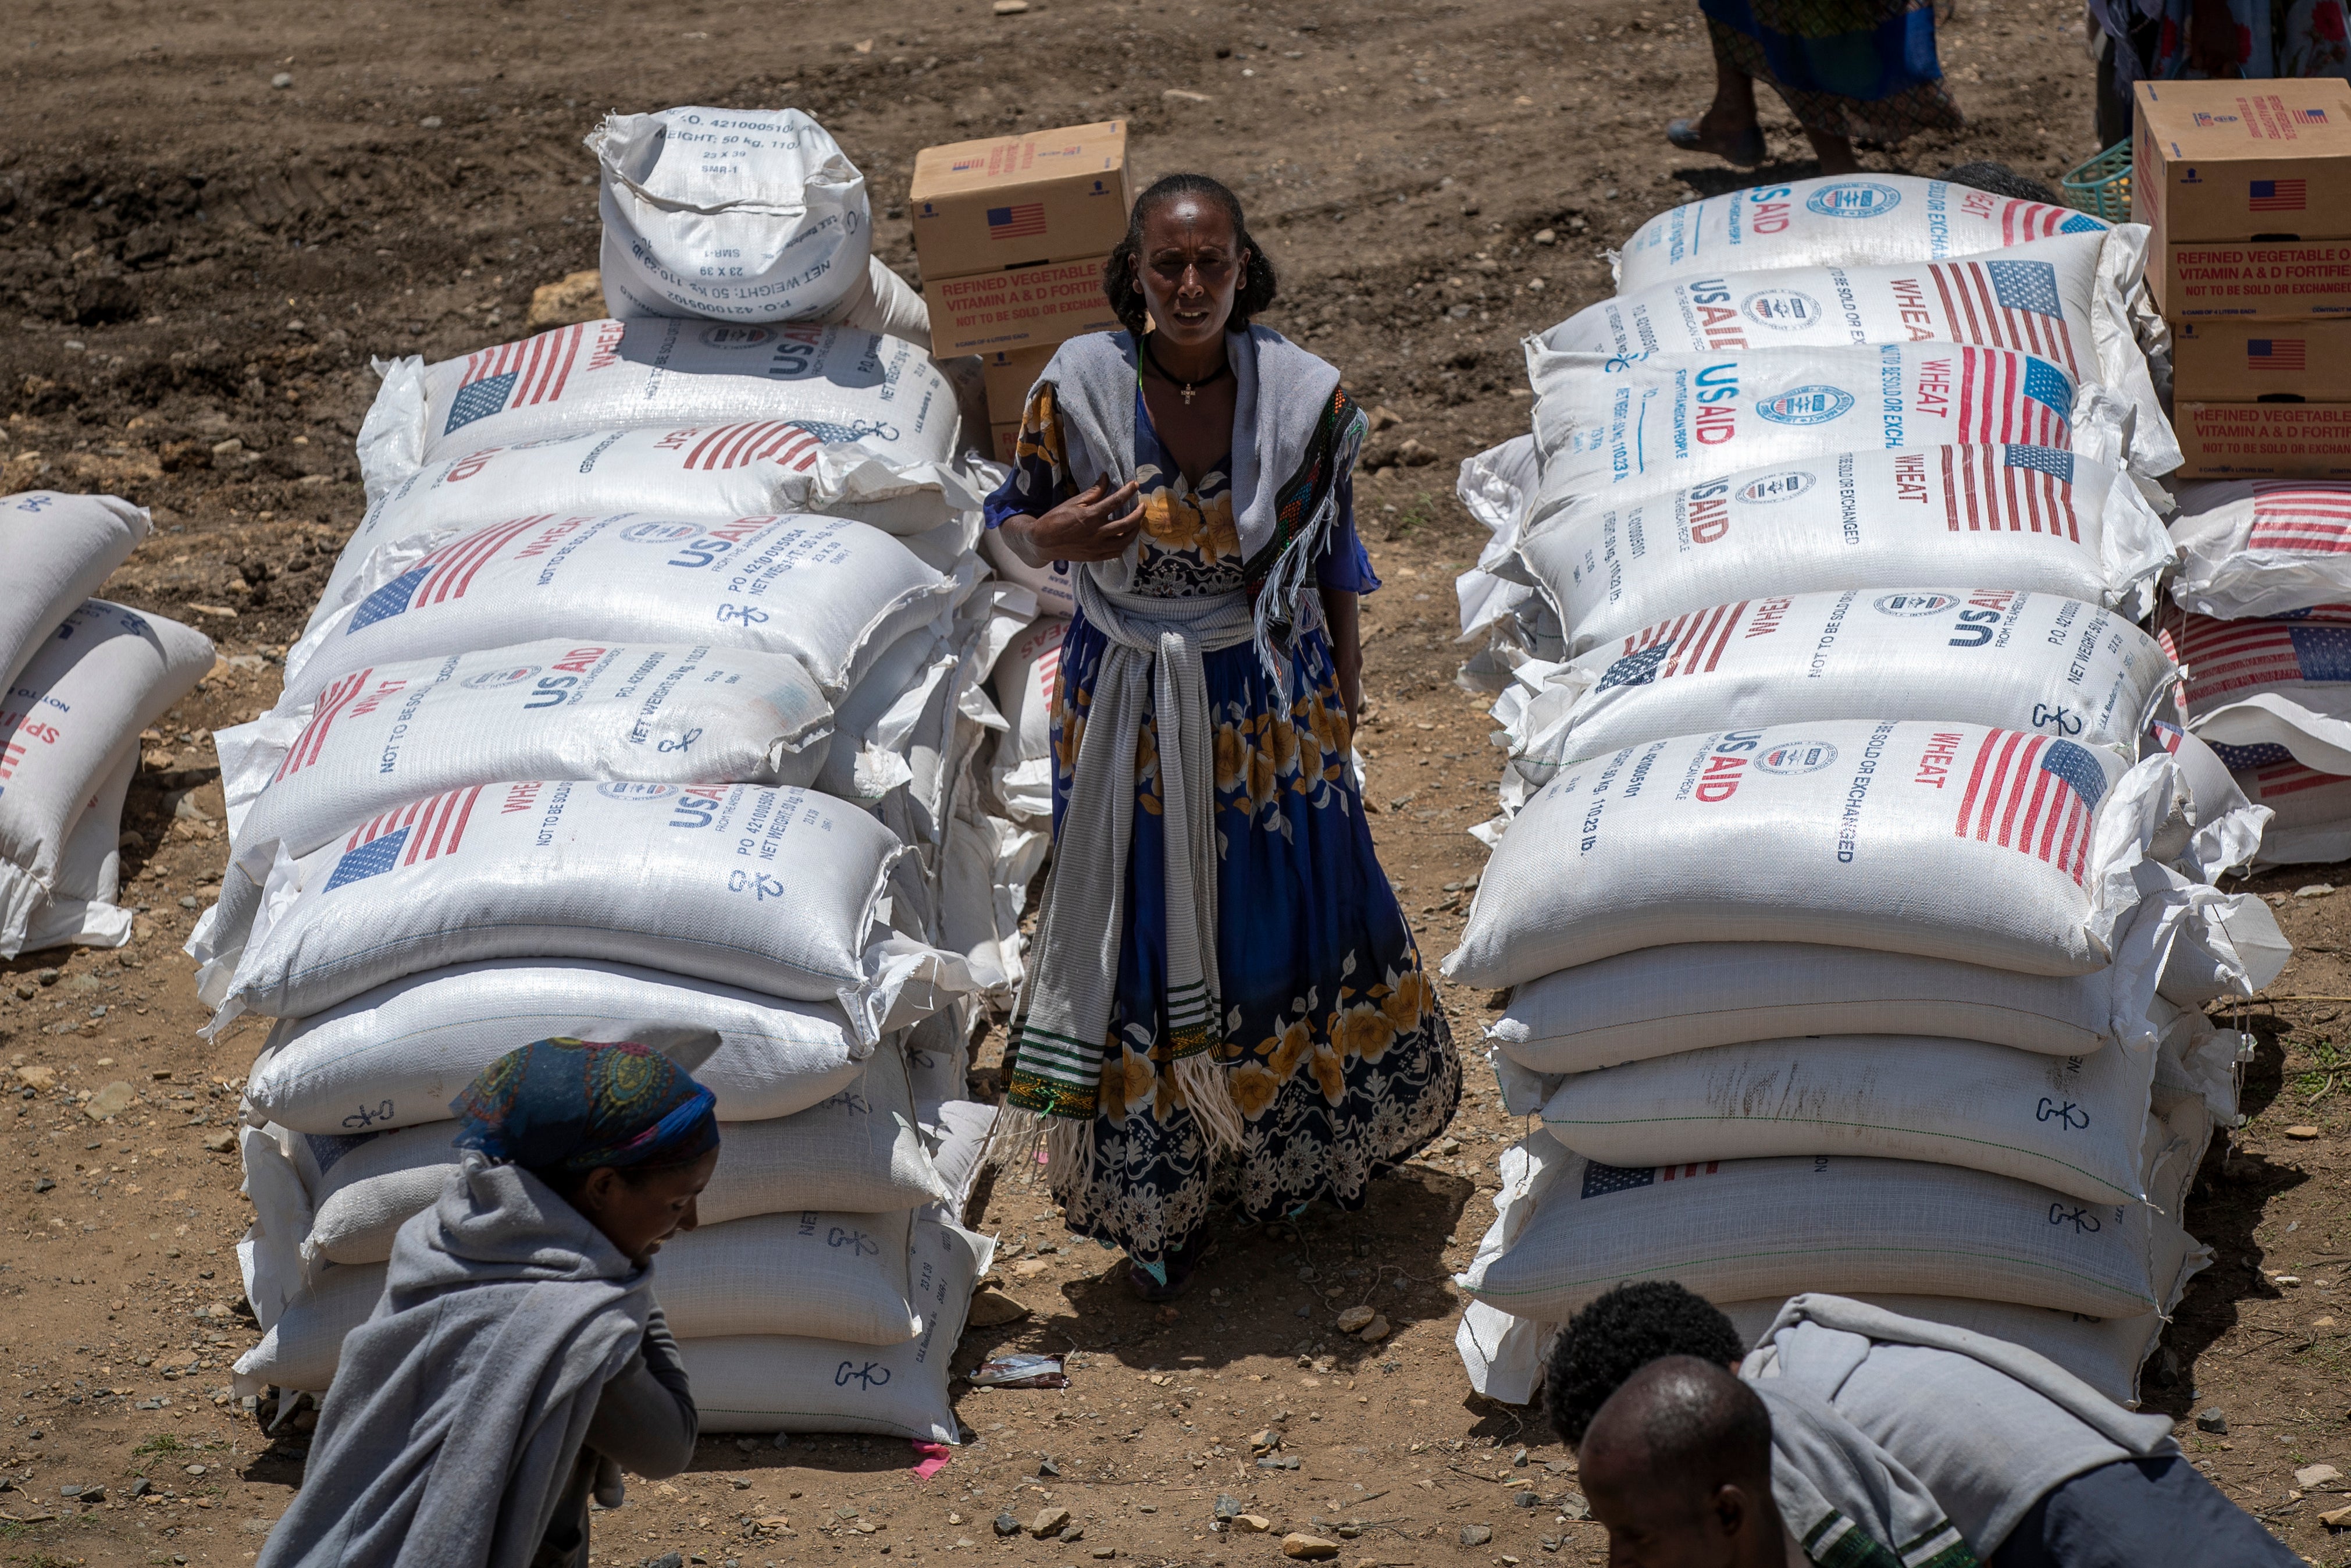
[[[1965,125],[1935,59],[1935,0],[1700,0],[1714,56],[1822,136],[1893,146]]]

